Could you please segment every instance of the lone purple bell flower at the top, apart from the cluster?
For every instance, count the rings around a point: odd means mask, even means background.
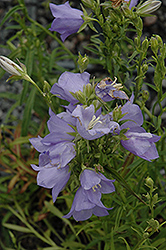
[[[60,33],[63,42],[69,35],[76,33],[84,22],[81,17],[83,16],[83,12],[71,8],[69,1],[60,5],[50,3],[50,9],[52,15],[55,17],[50,30]]]

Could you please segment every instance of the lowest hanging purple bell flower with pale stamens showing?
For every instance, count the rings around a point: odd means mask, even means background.
[[[85,169],[80,176],[81,186],[77,190],[70,212],[64,218],[74,217],[76,221],[96,216],[109,215],[108,210],[101,202],[101,194],[115,191],[114,180],[107,179],[101,173]]]

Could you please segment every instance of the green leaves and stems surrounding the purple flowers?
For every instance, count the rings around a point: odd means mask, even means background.
[[[29,17],[23,0],[19,0],[1,22],[2,26],[10,19],[15,21],[14,26],[7,27],[15,30],[15,35],[6,41],[5,48],[10,51],[8,56],[12,60],[18,58],[26,66],[33,80],[29,83],[24,78],[22,92],[18,95],[0,93],[0,98],[13,101],[0,128],[0,170],[3,172],[0,176],[0,247],[6,250],[164,250],[166,181],[162,171],[166,171],[166,130],[162,115],[166,108],[161,102],[166,98],[162,90],[166,45],[158,35],[142,39],[142,19],[125,4],[113,8],[111,1],[101,4],[99,0],[82,0],[82,3],[93,15],[83,7],[85,22],[79,32],[88,26],[93,35],[85,47],[88,56],[78,53],[79,59],[48,30],[49,25],[44,28]],[[135,36],[130,37],[129,32],[134,32]],[[57,43],[51,52],[47,47],[48,36]],[[160,157],[153,162],[139,159],[124,150],[120,137],[116,136],[90,141],[88,146],[82,140],[71,163],[75,177],[54,205],[50,191],[36,185],[36,172],[30,164],[38,164],[38,154],[31,148],[29,139],[48,133],[49,107],[56,113],[63,110],[62,102],[49,91],[59,75],[68,70],[59,64],[66,60],[74,63],[73,72],[79,69],[83,72],[87,62],[102,66],[112,79],[117,77],[129,96],[134,91],[134,102],[142,109],[144,118],[148,117],[144,119],[144,128],[161,136],[157,143]],[[145,81],[150,67],[154,68],[154,83]],[[0,77],[3,74],[0,69]],[[133,85],[129,88],[131,82]],[[149,95],[144,91],[145,85],[157,96],[152,111],[146,107]],[[94,95],[94,85],[87,85],[83,92],[74,94],[84,105],[88,105]],[[109,108],[109,104],[108,107],[101,105]],[[111,105],[114,107],[114,102]],[[13,115],[13,110],[19,106],[24,107],[22,119]],[[159,106],[158,115],[156,106]],[[17,125],[11,127],[13,121],[17,121]],[[75,222],[62,216],[71,207],[78,187],[77,168],[83,163],[96,169],[103,167],[108,178],[116,179],[116,192],[111,197],[103,196],[106,206],[113,207],[109,216],[93,215],[88,221]]]

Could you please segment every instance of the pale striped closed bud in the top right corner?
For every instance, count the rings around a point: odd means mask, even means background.
[[[156,11],[161,6],[161,1],[158,0],[148,0],[137,7],[136,12],[140,15],[151,14]]]

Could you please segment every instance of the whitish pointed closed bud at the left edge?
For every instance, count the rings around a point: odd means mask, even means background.
[[[23,69],[19,65],[5,56],[0,56],[0,66],[9,74],[14,76],[21,76],[20,71],[23,72]]]

